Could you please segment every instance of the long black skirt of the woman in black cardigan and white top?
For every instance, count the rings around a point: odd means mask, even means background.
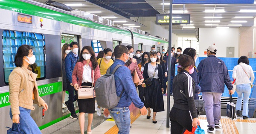
[[[150,86],[144,88],[144,104],[146,108],[152,108],[154,112],[164,111],[163,94],[159,79],[153,79]]]

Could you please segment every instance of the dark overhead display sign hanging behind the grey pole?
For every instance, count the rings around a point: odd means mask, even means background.
[[[169,25],[169,14],[157,14],[158,25]],[[172,14],[172,24],[190,24],[190,14]]]

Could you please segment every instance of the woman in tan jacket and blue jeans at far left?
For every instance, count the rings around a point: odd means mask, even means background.
[[[36,77],[38,74],[32,72],[29,65],[35,63],[35,55],[31,46],[22,45],[15,55],[15,66],[9,76],[10,88],[10,117],[12,128],[17,130],[17,123],[25,134],[41,134],[35,121],[30,116],[31,110],[35,110],[33,103],[48,109],[47,103],[38,95]]]

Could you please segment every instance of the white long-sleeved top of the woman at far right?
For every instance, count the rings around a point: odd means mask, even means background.
[[[246,71],[251,80],[244,71]],[[234,67],[232,77],[236,79],[236,85],[253,83],[253,68],[245,63],[239,63],[239,65]]]

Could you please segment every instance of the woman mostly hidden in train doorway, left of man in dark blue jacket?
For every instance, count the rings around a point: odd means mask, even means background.
[[[63,83],[63,91],[62,91],[62,101],[64,102],[65,99],[65,93],[67,91],[67,80],[66,80],[66,70],[65,70],[65,58],[67,56],[67,54],[70,53],[70,46],[69,44],[65,43],[62,48],[61,48],[61,52],[62,52],[62,83]],[[64,103],[62,103],[62,108],[66,108],[66,105]]]

